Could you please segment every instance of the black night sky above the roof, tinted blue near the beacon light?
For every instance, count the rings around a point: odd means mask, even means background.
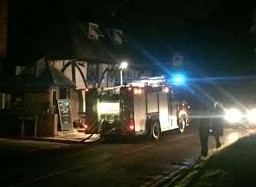
[[[252,2],[220,0],[15,1],[10,6],[8,51],[24,59],[41,57],[55,36],[64,34],[67,20],[78,19],[118,25],[166,67],[179,52],[186,71],[253,74],[254,8]]]

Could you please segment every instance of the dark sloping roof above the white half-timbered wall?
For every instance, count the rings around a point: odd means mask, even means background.
[[[99,25],[100,26],[100,25]],[[116,64],[120,61],[130,61],[133,64],[127,44],[114,44],[104,31],[105,37],[98,40],[89,39],[84,28],[87,23],[82,24],[74,20],[71,27],[66,28],[67,38],[63,43],[54,43],[48,51],[49,60],[56,59],[78,59],[93,63]],[[109,32],[109,31],[108,31]],[[67,47],[68,46],[68,47]]]

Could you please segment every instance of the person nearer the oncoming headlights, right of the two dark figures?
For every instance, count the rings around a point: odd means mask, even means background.
[[[215,102],[213,111],[212,111],[212,135],[215,137],[215,142],[216,142],[216,149],[220,148],[222,146],[221,142],[221,136],[223,135],[223,119],[222,119],[222,114],[223,114],[223,106],[222,103]]]

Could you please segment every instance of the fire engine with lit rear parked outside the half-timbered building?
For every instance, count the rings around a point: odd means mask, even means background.
[[[98,93],[99,133],[106,138],[147,135],[159,139],[161,132],[177,129],[183,133],[189,125],[188,104],[179,102],[162,78],[147,78]]]

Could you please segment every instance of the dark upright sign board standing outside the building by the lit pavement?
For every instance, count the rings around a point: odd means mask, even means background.
[[[71,102],[68,99],[57,100],[57,107],[61,120],[61,130],[73,130],[71,118]]]

